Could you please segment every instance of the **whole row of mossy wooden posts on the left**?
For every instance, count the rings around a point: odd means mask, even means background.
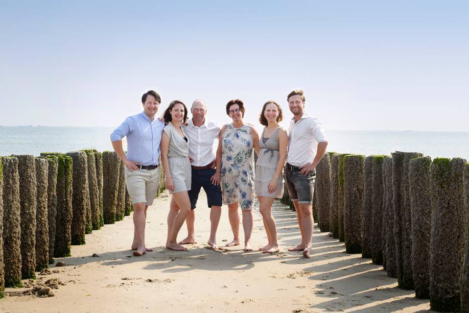
[[[0,298],[133,210],[125,167],[96,150],[0,157]],[[162,172],[162,171],[161,171]],[[162,173],[161,173],[162,175]],[[160,179],[158,195],[164,189]]]

